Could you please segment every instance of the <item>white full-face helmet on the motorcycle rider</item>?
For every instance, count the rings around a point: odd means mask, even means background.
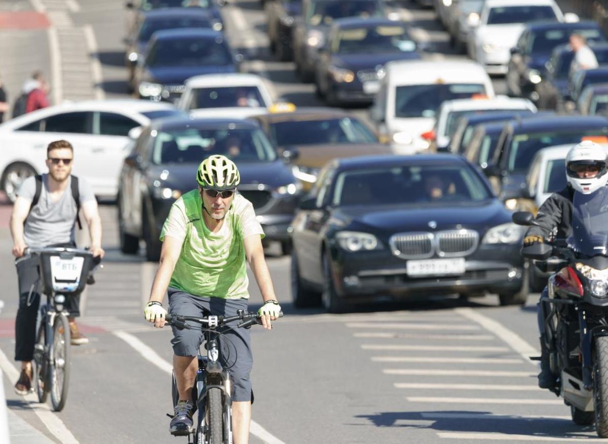
[[[591,140],[584,140],[568,151],[566,156],[566,178],[570,186],[582,194],[591,194],[608,182],[608,156],[600,145]],[[595,166],[598,170],[593,177],[579,177],[581,169]]]

